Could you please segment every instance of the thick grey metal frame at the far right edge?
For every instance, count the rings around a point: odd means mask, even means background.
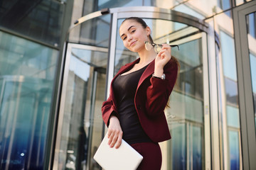
[[[252,97],[247,24],[245,19],[245,16],[255,12],[255,9],[256,1],[250,1],[233,9],[243,169],[255,169],[256,167],[255,113]]]

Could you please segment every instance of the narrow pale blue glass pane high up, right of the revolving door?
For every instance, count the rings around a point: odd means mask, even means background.
[[[235,43],[234,39],[220,31],[220,51],[223,58],[223,71],[225,77],[237,80],[236,63],[235,63]]]

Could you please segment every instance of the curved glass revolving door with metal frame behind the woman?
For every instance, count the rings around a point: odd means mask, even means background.
[[[172,139],[160,144],[162,169],[210,169],[208,24],[149,6],[104,9],[71,26],[53,168],[101,169],[92,158],[106,132],[100,108],[114,74],[138,57],[119,38],[119,26],[130,16],[144,18],[154,42],[180,47],[172,49],[181,70],[165,110]]]

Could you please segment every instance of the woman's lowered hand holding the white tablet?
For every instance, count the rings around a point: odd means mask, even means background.
[[[110,147],[114,147],[115,145],[116,149],[119,148],[122,143],[122,134],[123,132],[118,118],[111,115],[110,125],[107,130],[107,137],[109,138],[108,145],[110,145]]]

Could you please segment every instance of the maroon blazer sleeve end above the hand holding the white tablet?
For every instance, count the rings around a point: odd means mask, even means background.
[[[112,98],[107,98],[107,101],[102,103],[102,118],[107,127],[110,124],[110,116],[115,115],[118,118],[117,109],[114,107]]]

